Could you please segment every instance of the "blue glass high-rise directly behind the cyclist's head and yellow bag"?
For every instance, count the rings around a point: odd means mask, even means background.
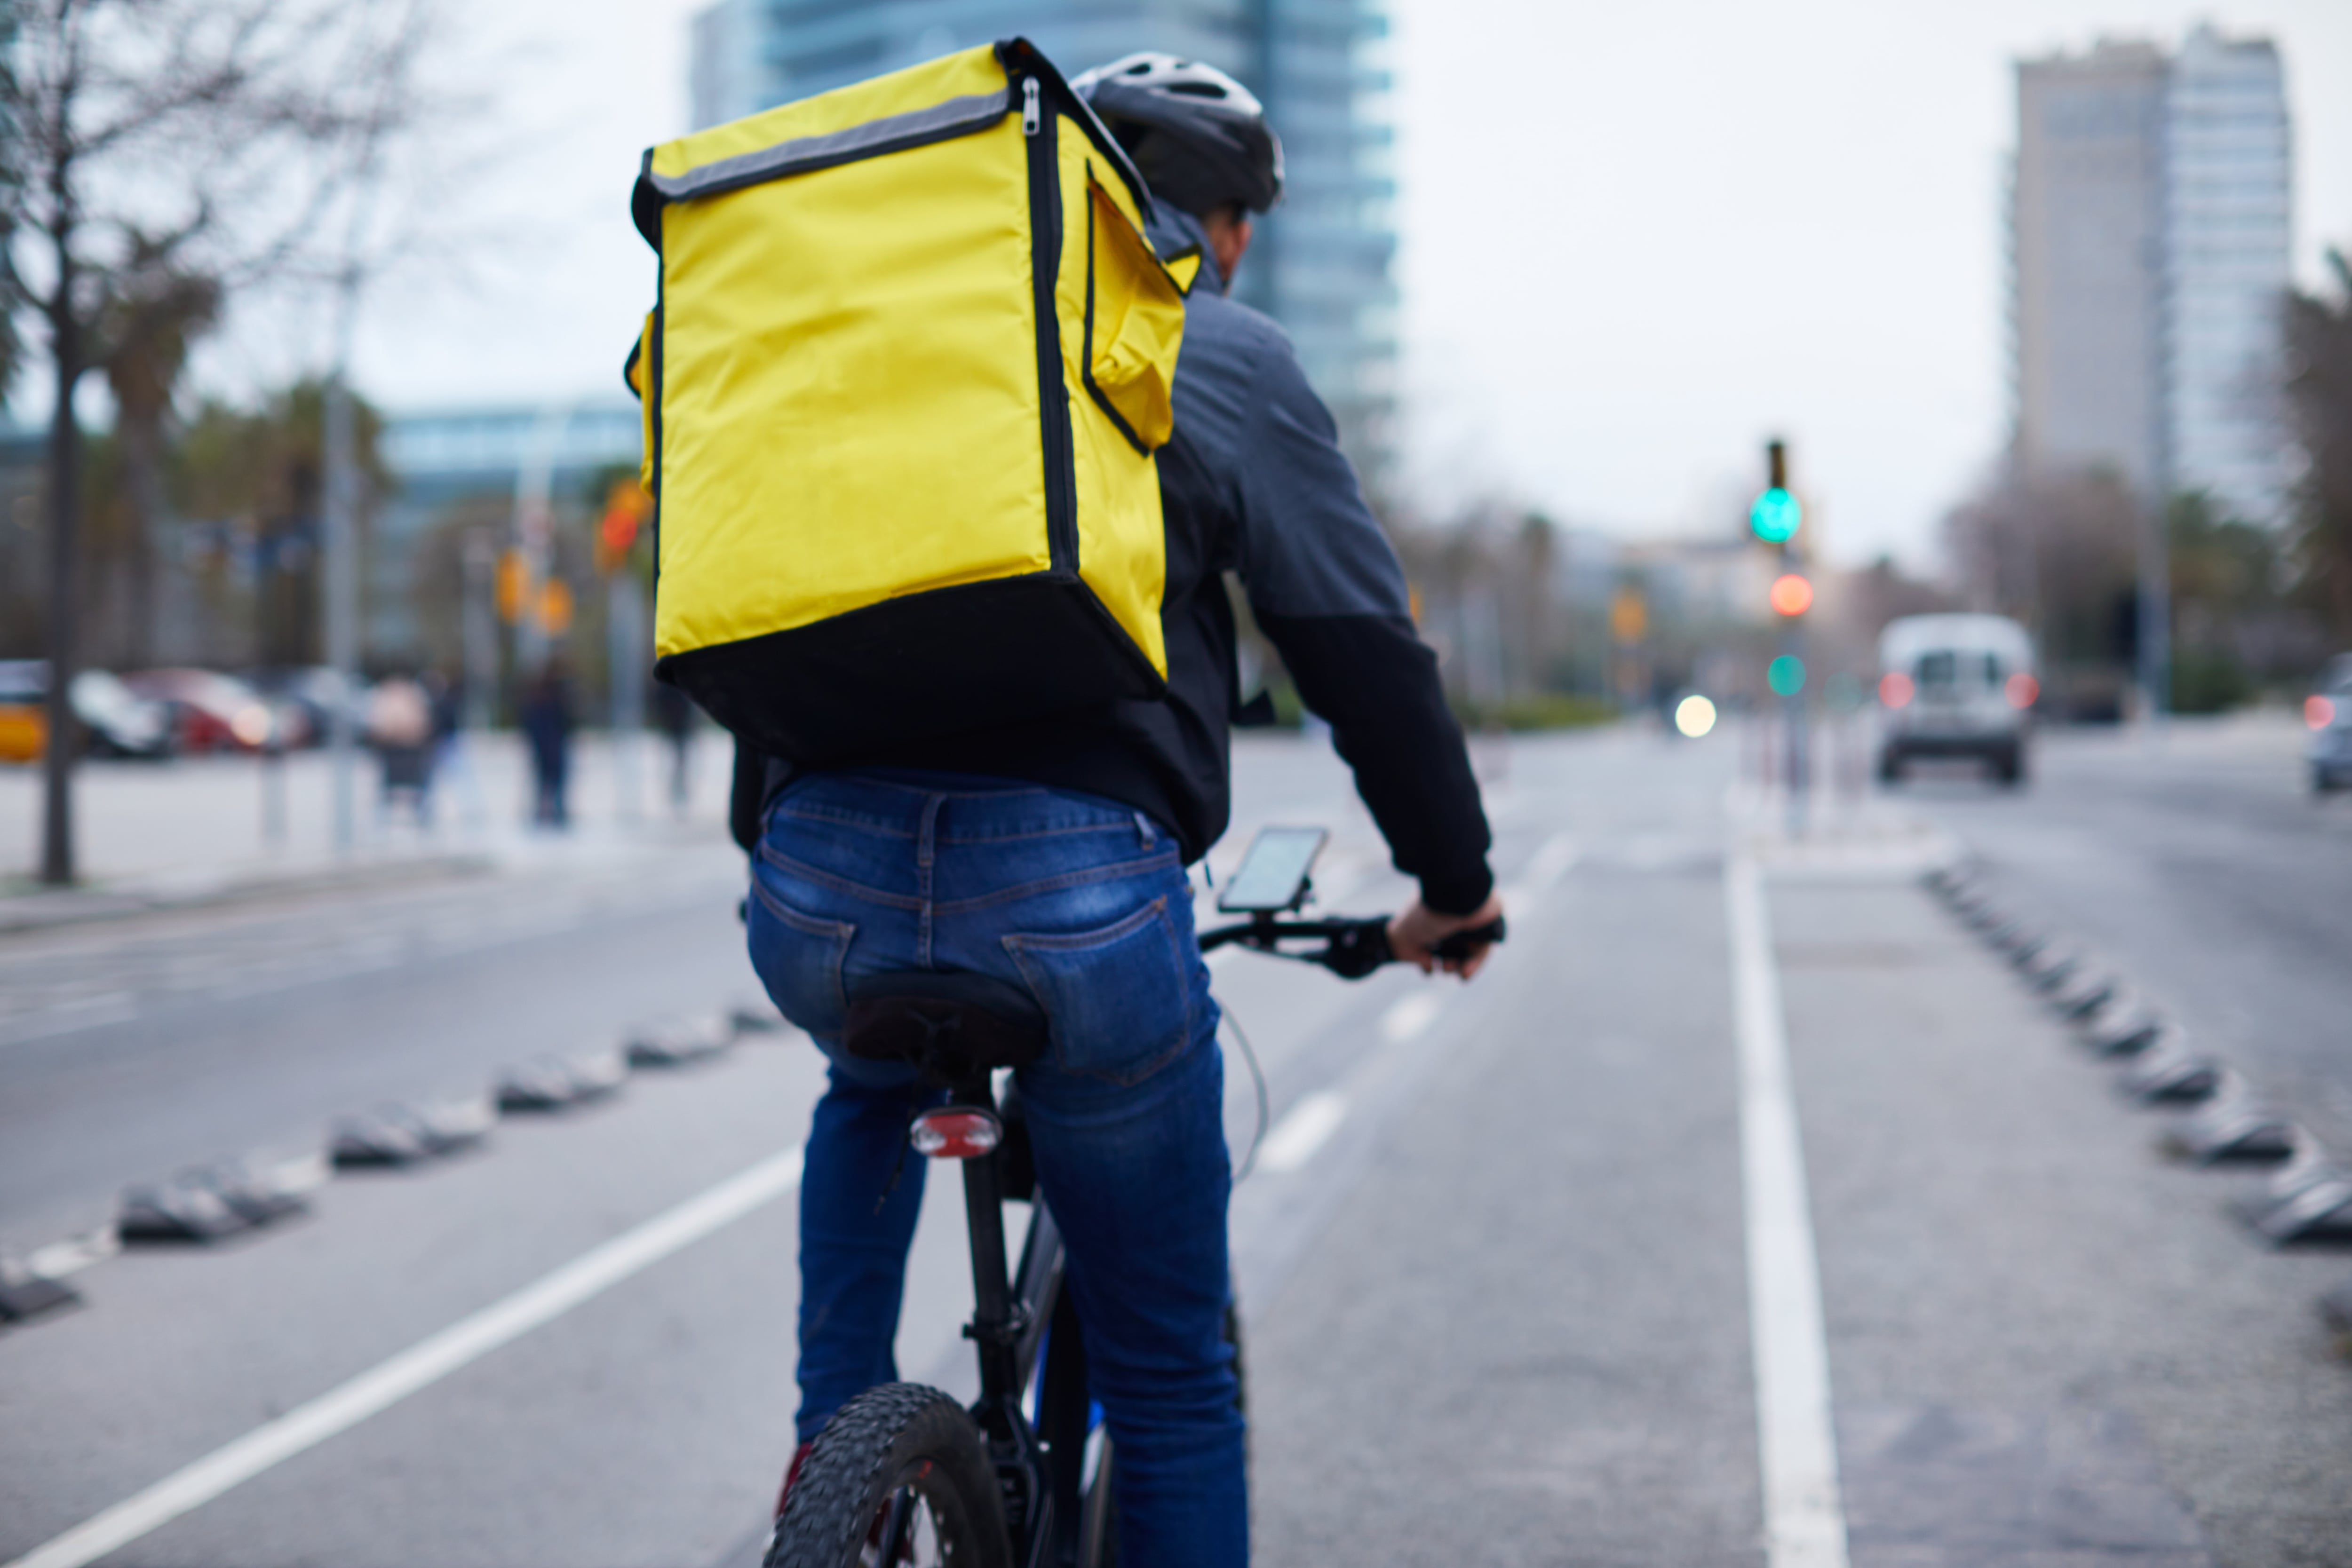
[[[1282,136],[1287,193],[1235,299],[1291,334],[1378,482],[1395,409],[1395,183],[1383,0],[717,0],[694,19],[694,122],[717,125],[953,49],[1025,35],[1063,71],[1164,49],[1232,73]]]

